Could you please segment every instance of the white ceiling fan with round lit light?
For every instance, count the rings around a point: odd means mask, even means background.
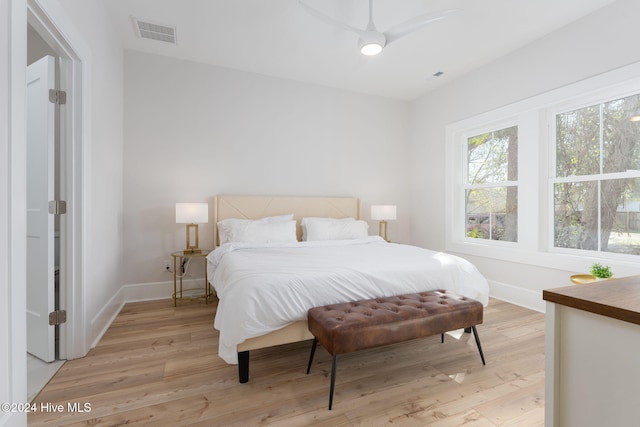
[[[310,15],[313,15],[330,25],[356,33],[359,36],[358,47],[360,48],[360,52],[367,56],[377,55],[382,52],[382,49],[389,43],[396,41],[407,34],[421,30],[432,22],[445,19],[460,12],[460,9],[445,9],[437,12],[426,13],[398,24],[385,32],[381,32],[377,30],[373,23],[373,0],[369,0],[369,23],[364,30],[336,21],[335,19],[305,4],[302,0],[298,0],[298,2]]]

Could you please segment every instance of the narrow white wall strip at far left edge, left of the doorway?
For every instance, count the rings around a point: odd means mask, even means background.
[[[0,2],[0,402],[8,403],[27,397],[26,23],[24,0]],[[5,425],[26,425],[26,414],[0,411]]]

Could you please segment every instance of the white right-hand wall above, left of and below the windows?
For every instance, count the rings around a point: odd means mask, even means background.
[[[449,172],[444,162],[446,126],[640,61],[640,50],[630,42],[640,35],[638,16],[640,3],[618,0],[412,104],[410,182],[414,244],[445,248],[443,183]],[[572,272],[477,256],[466,258],[492,282],[492,291],[517,294],[524,290],[525,298],[539,299],[543,288],[570,284],[568,277]]]

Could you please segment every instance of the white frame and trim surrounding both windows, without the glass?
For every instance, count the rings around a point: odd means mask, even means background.
[[[555,114],[640,93],[638,76],[640,62],[449,124],[445,130],[445,249],[460,255],[564,271],[584,271],[585,265],[601,261],[612,268],[637,271],[639,258],[635,255],[565,251],[565,248],[553,247],[553,193],[549,174],[552,171],[555,177],[555,170],[550,168],[555,165],[552,158]],[[467,239],[464,193],[461,196],[466,173],[465,137],[508,127],[506,125],[518,126],[518,242]]]

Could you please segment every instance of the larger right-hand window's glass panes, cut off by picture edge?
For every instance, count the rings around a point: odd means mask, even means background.
[[[640,255],[640,95],[556,114],[552,168],[554,247]]]

